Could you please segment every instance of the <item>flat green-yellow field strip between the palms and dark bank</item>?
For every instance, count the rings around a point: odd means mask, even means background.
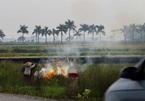
[[[145,55],[145,44],[0,45],[1,57],[17,56]]]

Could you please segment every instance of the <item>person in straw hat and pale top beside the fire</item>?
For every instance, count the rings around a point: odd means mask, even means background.
[[[32,62],[26,62],[22,68],[23,78],[30,80],[32,69],[35,67],[35,64]]]

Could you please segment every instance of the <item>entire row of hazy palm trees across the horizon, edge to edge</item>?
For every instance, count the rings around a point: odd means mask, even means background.
[[[66,40],[69,42],[76,38],[77,41],[79,38],[83,38],[83,42],[86,41],[87,35],[91,35],[92,41],[95,40],[95,35],[99,35],[99,40],[101,41],[101,35],[105,35],[104,31],[105,27],[103,25],[88,25],[88,24],[80,24],[80,27],[77,29],[74,21],[67,20],[64,24],[59,24],[56,28],[49,29],[49,27],[41,27],[35,26],[32,34],[36,36],[36,42],[39,43],[39,38],[41,36],[45,36],[45,42],[48,42],[49,36],[53,36],[53,42],[56,41],[56,36],[60,36],[61,43],[63,42],[64,34],[68,35]],[[145,41],[145,23],[144,24],[130,24],[125,25],[123,28],[111,30],[111,32],[115,34],[123,34],[124,41]],[[29,34],[28,26],[20,25],[20,29],[17,33],[22,33],[20,37],[18,37],[19,42],[24,42],[25,34]],[[3,38],[6,35],[0,29],[0,38]]]

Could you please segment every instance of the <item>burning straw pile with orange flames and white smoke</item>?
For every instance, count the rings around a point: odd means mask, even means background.
[[[64,61],[56,60],[53,62],[48,62],[44,66],[34,73],[36,78],[44,78],[46,82],[49,83],[49,80],[53,76],[62,76],[68,78],[68,69],[71,67],[68,58]]]

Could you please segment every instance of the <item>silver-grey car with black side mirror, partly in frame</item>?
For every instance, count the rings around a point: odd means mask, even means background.
[[[105,101],[145,101],[145,58],[122,69],[120,77],[106,91]]]

